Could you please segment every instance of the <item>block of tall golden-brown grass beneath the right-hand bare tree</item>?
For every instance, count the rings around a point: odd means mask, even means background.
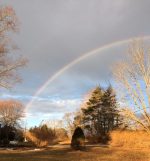
[[[150,135],[145,131],[113,131],[111,146],[125,148],[150,148]]]

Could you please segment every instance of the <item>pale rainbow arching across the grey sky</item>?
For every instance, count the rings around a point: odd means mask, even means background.
[[[27,109],[30,108],[30,106],[32,105],[32,103],[34,102],[35,98],[42,93],[42,91],[45,90],[45,88],[52,83],[55,79],[57,79],[60,75],[62,75],[65,71],[67,71],[69,68],[71,68],[72,66],[76,65],[77,63],[79,63],[80,61],[84,60],[85,58],[88,58],[96,53],[105,51],[109,48],[112,47],[116,47],[119,45],[123,45],[126,43],[130,43],[133,40],[137,40],[137,39],[141,39],[141,37],[135,37],[135,38],[129,38],[129,39],[125,39],[125,40],[121,40],[121,41],[115,41],[113,43],[110,44],[106,44],[102,47],[96,48],[90,52],[84,53],[82,54],[80,57],[78,57],[77,59],[73,60],[72,62],[70,62],[69,64],[65,65],[64,67],[62,67],[60,70],[58,70],[54,75],[50,76],[50,78],[36,91],[36,93],[34,94],[33,98],[31,99],[31,101],[26,105],[26,111]],[[150,35],[148,36],[143,36],[142,40],[148,40],[150,39]]]

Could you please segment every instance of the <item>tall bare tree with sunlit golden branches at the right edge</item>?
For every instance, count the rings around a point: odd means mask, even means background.
[[[134,41],[126,59],[113,68],[123,114],[150,132],[150,51],[142,41]],[[124,102],[125,101],[125,102]],[[128,108],[129,107],[129,108]]]

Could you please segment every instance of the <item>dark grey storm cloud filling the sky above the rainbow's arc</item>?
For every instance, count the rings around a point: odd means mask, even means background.
[[[30,60],[24,78],[32,75],[39,85],[84,52],[115,40],[149,33],[149,2],[146,0],[2,2],[11,4],[21,21],[16,41],[19,52]],[[28,81],[33,80],[25,80]]]

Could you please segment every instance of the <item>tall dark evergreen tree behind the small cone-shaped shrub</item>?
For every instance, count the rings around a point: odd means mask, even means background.
[[[85,128],[92,135],[106,135],[119,126],[117,100],[111,86],[106,90],[96,87],[82,112]]]

